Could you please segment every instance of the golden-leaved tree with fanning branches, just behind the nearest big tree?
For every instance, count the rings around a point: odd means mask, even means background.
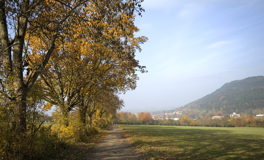
[[[57,106],[65,119],[80,102],[78,94],[84,87],[86,80],[84,75],[87,76],[85,71],[90,61],[88,53],[82,52],[85,45],[81,45],[87,38],[80,36],[81,30],[74,30],[78,26],[75,23],[72,22],[71,27],[68,28],[71,31],[65,31],[66,33],[60,36],[49,64],[40,75],[43,82],[41,86],[45,93],[44,99]],[[36,55],[39,52],[37,48],[43,48],[36,41],[32,41],[30,46],[36,48],[32,49]],[[38,65],[37,57],[31,55],[27,60],[30,68]],[[65,125],[68,125],[68,122],[65,122]]]

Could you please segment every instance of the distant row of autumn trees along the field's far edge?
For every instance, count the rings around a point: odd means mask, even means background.
[[[141,116],[142,115],[142,116]],[[148,115],[146,116],[143,115]],[[170,118],[152,119],[149,113],[139,112],[132,114],[130,112],[119,112],[116,116],[116,122],[126,125],[170,125],[170,126],[202,126],[202,127],[264,127],[264,117],[255,118],[250,115],[242,115],[241,118],[230,118],[226,116],[220,119],[206,118],[205,116],[191,119],[183,115],[179,120]]]

